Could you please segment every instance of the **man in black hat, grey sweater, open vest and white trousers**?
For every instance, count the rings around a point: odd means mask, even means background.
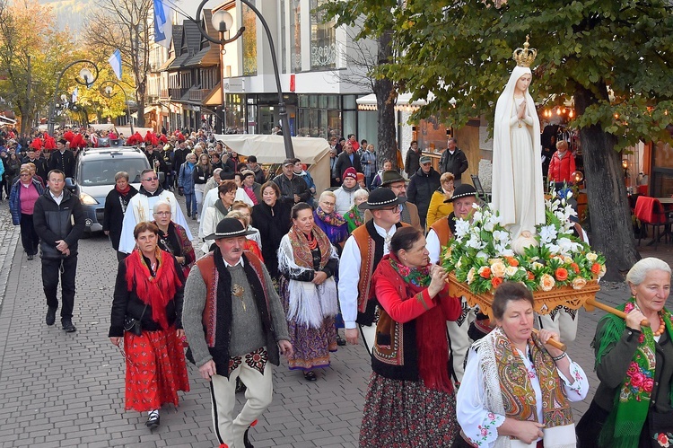
[[[271,404],[273,368],[292,356],[283,305],[267,268],[251,252],[235,218],[217,224],[215,249],[197,260],[185,284],[182,326],[188,359],[210,382],[214,429],[220,444],[248,448],[248,431]],[[236,379],[248,388],[238,416]]]

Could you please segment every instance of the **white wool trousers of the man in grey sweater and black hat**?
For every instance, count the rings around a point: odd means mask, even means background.
[[[232,370],[229,379],[226,376],[214,375],[210,382],[211,401],[213,403],[213,425],[220,444],[229,448],[244,448],[243,435],[250,424],[271,404],[274,395],[272,382],[273,365],[267,362],[264,374],[250,367],[245,362]],[[233,407],[236,404],[236,378],[246,385],[246,403],[240,414],[233,418]]]

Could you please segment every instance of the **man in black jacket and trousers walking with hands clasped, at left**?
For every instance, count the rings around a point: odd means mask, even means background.
[[[61,273],[61,325],[68,333],[73,325],[74,277],[77,271],[77,241],[84,232],[86,215],[79,198],[66,186],[66,174],[48,173],[44,194],[35,202],[33,225],[39,235],[42,258],[42,285],[47,297],[47,325],[54,325],[58,309],[58,273]]]

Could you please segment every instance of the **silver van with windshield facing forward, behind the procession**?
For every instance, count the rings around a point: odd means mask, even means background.
[[[66,179],[66,188],[82,202],[87,232],[103,230],[105,198],[115,188],[115,174],[127,171],[131,185],[140,189],[140,173],[149,168],[144,153],[130,146],[87,148],[78,154],[74,178]]]

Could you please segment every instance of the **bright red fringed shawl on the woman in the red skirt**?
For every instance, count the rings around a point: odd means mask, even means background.
[[[177,288],[182,283],[179,281],[170,254],[159,248],[155,253],[158,267],[154,277],[150,275],[150,268],[140,250],[134,250],[127,257],[127,290],[133,291],[135,285],[135,294],[138,298],[152,307],[152,320],[162,329],[168,329],[166,305],[173,300]]]

